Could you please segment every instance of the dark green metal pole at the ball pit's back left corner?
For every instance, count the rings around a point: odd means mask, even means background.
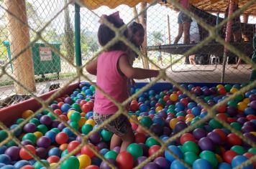
[[[78,4],[75,4],[76,65],[79,67],[82,65],[80,24],[80,6]]]

